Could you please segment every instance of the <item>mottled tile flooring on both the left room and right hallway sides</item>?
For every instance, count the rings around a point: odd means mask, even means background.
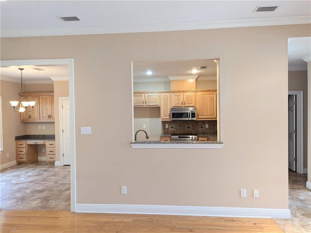
[[[311,233],[307,174],[289,171],[291,219],[273,220],[285,233]],[[0,171],[0,208],[70,211],[70,167],[38,162]]]

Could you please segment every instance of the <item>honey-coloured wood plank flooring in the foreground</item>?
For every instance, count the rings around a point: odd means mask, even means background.
[[[1,233],[282,233],[270,218],[1,210]]]

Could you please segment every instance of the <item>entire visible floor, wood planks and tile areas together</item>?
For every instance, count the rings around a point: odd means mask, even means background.
[[[71,213],[69,167],[39,162],[0,175],[1,233],[311,233],[307,175],[292,171],[291,219]]]

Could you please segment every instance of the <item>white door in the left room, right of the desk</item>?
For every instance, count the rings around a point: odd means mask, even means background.
[[[61,127],[62,139],[61,148],[63,156],[63,165],[70,165],[70,123],[69,123],[69,97],[61,100]]]

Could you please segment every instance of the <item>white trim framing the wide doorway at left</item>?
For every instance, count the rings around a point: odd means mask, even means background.
[[[10,65],[68,65],[69,77],[69,104],[70,104],[70,211],[76,210],[76,121],[74,95],[74,66],[72,59],[33,59],[0,61],[1,67]]]

